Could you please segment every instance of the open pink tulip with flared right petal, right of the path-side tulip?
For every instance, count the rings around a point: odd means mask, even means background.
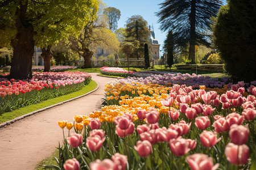
[[[86,146],[91,151],[98,151],[102,144],[104,143],[106,138],[101,139],[99,135],[94,135],[93,137],[87,137],[86,138]]]

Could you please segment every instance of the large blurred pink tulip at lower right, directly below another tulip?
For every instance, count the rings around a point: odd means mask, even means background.
[[[225,147],[225,155],[230,163],[234,165],[243,165],[248,161],[249,147],[245,144],[234,145],[234,143],[228,143]]]

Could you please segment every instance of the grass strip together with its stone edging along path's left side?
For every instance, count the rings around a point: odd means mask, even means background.
[[[63,96],[49,99],[46,101],[42,101],[38,104],[28,105],[26,107],[17,109],[13,112],[3,113],[0,116],[0,122],[1,122],[0,128],[3,128],[6,125],[13,124],[15,121],[22,120],[23,118],[31,116],[32,114],[36,114],[38,112],[45,111],[57,105],[67,103],[68,101],[72,101],[75,99],[79,99],[80,97],[89,95],[92,92],[96,91],[97,89],[98,89],[98,84],[94,80],[92,80],[89,84],[82,87],[81,90],[73,92],[71,94],[67,94],[67,95],[63,95]]]

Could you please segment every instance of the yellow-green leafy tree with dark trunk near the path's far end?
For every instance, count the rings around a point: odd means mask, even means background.
[[[97,12],[97,19],[88,22],[82,29],[78,37],[71,36],[69,40],[72,45],[71,48],[79,53],[84,58],[84,67],[92,68],[90,59],[93,56],[93,51],[98,47],[110,49],[117,53],[119,42],[117,36],[104,23],[104,5],[100,4],[100,9]]]

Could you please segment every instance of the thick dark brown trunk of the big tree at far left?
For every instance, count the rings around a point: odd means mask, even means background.
[[[27,3],[20,2],[20,4],[20,8],[17,8],[15,14],[17,33],[15,39],[11,40],[14,53],[10,77],[27,79],[32,77],[32,56],[35,46],[34,29],[26,20]]]

